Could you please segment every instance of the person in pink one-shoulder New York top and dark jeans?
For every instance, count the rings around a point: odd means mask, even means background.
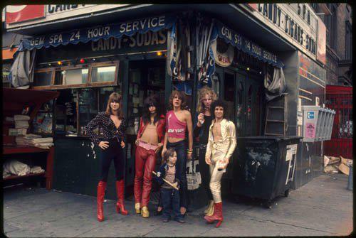
[[[164,135],[164,144],[162,156],[167,148],[174,148],[177,152],[177,178],[181,181],[179,189],[180,212],[185,215],[187,212],[187,159],[192,159],[193,153],[193,124],[192,115],[185,110],[186,100],[184,93],[173,90],[169,97],[169,109],[166,114],[166,134]],[[186,145],[186,131],[188,131],[188,149]],[[159,210],[159,207],[158,209]]]

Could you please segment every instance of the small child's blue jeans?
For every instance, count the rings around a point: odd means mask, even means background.
[[[179,191],[174,188],[161,188],[161,196],[163,203],[163,218],[170,219],[170,210],[172,208],[174,220],[181,220],[183,216],[179,211]]]

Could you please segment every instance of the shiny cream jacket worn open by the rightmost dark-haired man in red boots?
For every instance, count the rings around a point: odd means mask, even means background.
[[[212,121],[211,126],[209,127],[209,140],[208,144],[206,145],[206,153],[205,153],[205,158],[210,159],[211,158],[211,153],[213,151],[213,146],[215,146],[216,149],[219,149],[220,151],[223,151],[226,155],[225,158],[229,159],[232,156],[232,153],[234,153],[234,150],[236,148],[236,129],[235,129],[235,124],[232,121],[228,121],[226,119],[223,119],[220,122],[221,126],[221,141],[214,142],[214,136],[212,132],[212,128],[215,124],[215,120]]]

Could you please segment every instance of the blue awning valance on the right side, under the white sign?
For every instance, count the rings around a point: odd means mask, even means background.
[[[276,67],[284,66],[283,63],[278,60],[276,54],[261,48],[261,46],[253,43],[251,40],[248,40],[248,38],[245,38],[244,36],[241,36],[241,34],[236,33],[236,31],[233,31],[231,28],[224,26],[223,23],[217,20],[214,21],[215,24],[214,30],[211,33],[211,41],[216,40],[219,36],[219,38],[224,39],[226,43],[234,45],[234,47],[244,51],[244,53],[248,53],[249,55],[258,58],[258,60],[262,60],[263,62]]]

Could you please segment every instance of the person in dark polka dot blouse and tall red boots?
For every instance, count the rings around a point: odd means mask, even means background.
[[[99,138],[94,133],[93,129],[97,126],[103,128],[103,139]],[[122,215],[127,215],[128,212],[124,207],[124,150],[125,148],[125,131],[126,120],[122,113],[122,97],[116,92],[110,94],[108,105],[105,112],[100,112],[93,120],[91,120],[85,129],[88,136],[93,141],[95,146],[99,146],[103,150],[103,156],[100,163],[100,181],[98,183],[97,197],[97,216],[98,221],[104,220],[103,201],[105,195],[106,183],[108,181],[108,173],[110,163],[113,160],[115,165],[116,176],[116,193],[117,203],[115,204],[116,212]]]

